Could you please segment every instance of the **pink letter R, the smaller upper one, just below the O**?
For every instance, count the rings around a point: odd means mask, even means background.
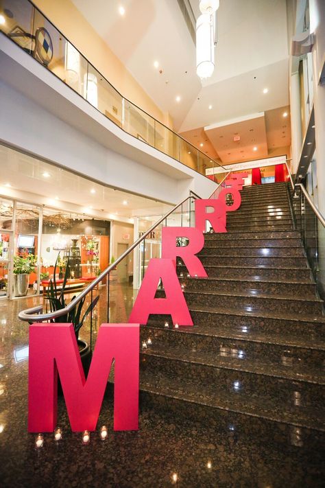
[[[222,190],[224,191],[224,190]],[[221,191],[221,192],[222,192]],[[213,207],[214,211],[208,213],[206,209]],[[208,220],[215,232],[227,232],[226,229],[226,203],[224,200],[195,200],[195,227],[201,231],[206,231],[206,220]]]

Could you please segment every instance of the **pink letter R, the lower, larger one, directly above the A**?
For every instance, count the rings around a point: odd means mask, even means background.
[[[176,246],[177,237],[187,237],[187,246]],[[181,257],[191,276],[207,277],[200,259],[195,256],[204,246],[204,235],[195,227],[163,227],[161,257],[173,259]]]

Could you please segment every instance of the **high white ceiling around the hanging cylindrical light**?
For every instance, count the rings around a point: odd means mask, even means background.
[[[197,17],[199,0],[189,2]],[[178,132],[289,104],[286,0],[220,0],[215,72],[203,82],[177,0],[73,3]]]

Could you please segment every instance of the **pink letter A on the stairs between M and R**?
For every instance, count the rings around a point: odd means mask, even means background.
[[[160,279],[166,298],[154,297]],[[168,314],[173,324],[193,325],[172,259],[150,259],[129,322],[147,324],[149,314]]]

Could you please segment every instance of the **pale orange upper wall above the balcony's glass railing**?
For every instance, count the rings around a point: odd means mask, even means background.
[[[34,0],[34,4],[121,95],[172,128],[171,117],[156,106],[71,0]]]

